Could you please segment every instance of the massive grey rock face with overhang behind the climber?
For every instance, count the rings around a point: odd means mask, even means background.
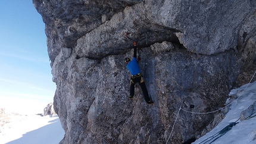
[[[229,90],[251,79],[256,1],[33,0],[42,15],[57,84],[60,143],[183,143],[210,130]],[[123,64],[138,41],[139,86],[128,99]],[[255,79],[253,79],[254,81]],[[195,105],[194,108],[190,108]]]

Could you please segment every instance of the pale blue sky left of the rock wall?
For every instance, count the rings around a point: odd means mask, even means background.
[[[32,0],[0,1],[0,108],[53,102],[45,24]]]

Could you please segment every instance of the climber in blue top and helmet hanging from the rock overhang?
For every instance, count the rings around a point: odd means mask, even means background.
[[[144,99],[146,101],[146,104],[154,104],[148,96],[148,90],[146,89],[146,84],[143,80],[143,77],[141,75],[141,71],[139,70],[139,65],[137,63],[137,60],[139,61],[141,58],[137,57],[137,42],[133,42],[134,48],[133,48],[133,58],[132,61],[130,58],[125,58],[124,63],[126,64],[127,69],[132,74],[130,78],[130,96],[129,99],[133,99],[134,96],[134,90],[135,90],[135,84],[139,83],[142,89],[142,93],[144,96]]]

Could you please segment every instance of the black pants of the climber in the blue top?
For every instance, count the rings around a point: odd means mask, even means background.
[[[141,74],[133,75],[130,78],[130,96],[134,96],[134,90],[135,90],[135,84],[136,83],[139,83],[139,85],[141,86],[142,93],[143,93],[145,101],[146,102],[150,101],[150,98],[148,96],[148,90],[146,89],[146,84],[145,84]]]

